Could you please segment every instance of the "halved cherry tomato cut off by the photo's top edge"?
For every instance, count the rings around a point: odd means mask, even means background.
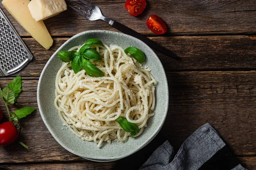
[[[144,11],[146,4],[146,0],[127,0],[125,8],[135,17]]]

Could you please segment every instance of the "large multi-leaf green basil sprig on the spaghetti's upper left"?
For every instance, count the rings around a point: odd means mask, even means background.
[[[102,56],[92,47],[93,45],[104,46],[101,40],[92,38],[85,42],[85,44],[76,51],[59,51],[58,57],[63,62],[71,62],[71,68],[77,74],[84,67],[86,73],[91,77],[102,77],[104,73],[92,64],[89,60],[102,60]]]

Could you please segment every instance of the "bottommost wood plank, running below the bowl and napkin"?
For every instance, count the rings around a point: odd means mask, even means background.
[[[250,169],[256,169],[256,157],[239,157],[241,164]],[[246,166],[245,166],[246,165]],[[70,164],[69,162],[56,162],[56,163],[38,163],[38,164],[1,164],[0,166],[8,167],[12,170],[113,170],[117,169],[119,166],[115,162],[92,162],[92,161],[79,161],[73,162]],[[119,166],[120,169],[126,170],[128,167]]]

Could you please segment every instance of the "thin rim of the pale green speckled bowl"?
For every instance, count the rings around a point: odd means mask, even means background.
[[[167,77],[166,77],[166,73],[165,73],[165,71],[164,71],[164,68],[163,68],[163,65],[161,64],[160,65],[160,69],[162,69],[163,70],[163,73],[164,73],[164,78],[165,78],[165,82],[166,82],[166,85],[167,85],[167,94],[166,94],[166,99],[167,99],[167,105],[166,105],[166,111],[165,111],[165,113],[164,113],[164,119],[163,119],[163,121],[161,122],[161,124],[160,124],[160,126],[159,126],[159,128],[154,132],[154,133],[152,133],[151,134],[151,137],[150,138],[148,138],[147,140],[145,140],[144,142],[142,142],[142,144],[141,144],[141,147],[140,148],[138,148],[137,150],[132,150],[131,152],[128,152],[128,153],[126,153],[126,154],[124,154],[124,155],[122,155],[122,156],[113,156],[113,157],[109,157],[109,158],[105,158],[105,157],[95,157],[95,156],[88,156],[88,155],[86,155],[86,156],[84,156],[84,155],[81,155],[81,154],[78,154],[78,153],[76,153],[75,151],[73,151],[71,148],[69,148],[69,147],[67,147],[66,146],[66,144],[64,144],[64,142],[61,142],[61,140],[59,140],[58,139],[58,137],[56,137],[55,136],[55,133],[53,132],[54,130],[52,130],[52,128],[50,127],[50,125],[48,125],[48,123],[47,123],[47,121],[46,121],[46,116],[43,114],[43,111],[42,111],[42,107],[41,107],[41,99],[40,99],[40,94],[39,94],[39,89],[40,89],[40,87],[41,87],[41,80],[42,80],[42,78],[43,78],[43,75],[44,75],[44,72],[46,71],[46,69],[47,69],[47,67],[48,67],[48,65],[50,64],[50,62],[52,61],[52,59],[55,57],[55,55],[56,54],[58,54],[58,51],[60,51],[60,49],[61,48],[63,48],[65,45],[67,45],[71,40],[73,40],[73,39],[76,39],[76,37],[79,37],[79,36],[81,36],[81,35],[83,35],[83,34],[88,34],[88,33],[99,33],[99,32],[101,32],[101,33],[110,33],[110,34],[121,34],[122,36],[125,36],[125,37],[127,37],[127,38],[129,38],[129,39],[136,39],[137,41],[139,41],[139,42],[141,42],[141,43],[143,43],[144,45],[146,45],[146,46],[148,46],[145,42],[143,42],[143,41],[141,41],[141,40],[139,40],[139,39],[137,39],[136,37],[133,37],[133,36],[130,36],[130,35],[128,35],[128,34],[124,34],[124,33],[120,33],[120,32],[116,32],[116,31],[105,31],[105,30],[90,30],[90,31],[84,31],[84,32],[81,32],[81,33],[79,33],[79,34],[76,34],[76,35],[74,35],[73,37],[71,37],[70,39],[68,39],[66,42],[64,42],[64,44],[62,44],[55,52],[54,52],[54,54],[52,54],[52,56],[49,58],[49,60],[48,60],[48,62],[46,63],[46,65],[44,66],[44,69],[43,69],[43,71],[41,72],[41,75],[40,75],[40,78],[39,78],[39,80],[38,80],[38,87],[37,87],[37,103],[38,103],[38,109],[39,109],[39,113],[40,113],[40,115],[41,115],[41,117],[42,117],[42,119],[43,119],[43,122],[44,122],[44,124],[46,125],[46,127],[47,127],[47,129],[49,130],[49,132],[51,133],[51,135],[53,136],[53,138],[58,142],[58,144],[60,144],[62,147],[64,147],[64,149],[66,149],[66,150],[68,150],[70,153],[73,153],[73,154],[75,154],[75,155],[77,155],[77,156],[80,156],[80,157],[82,157],[82,158],[84,158],[84,159],[93,159],[92,161],[97,161],[97,160],[99,160],[99,161],[103,161],[103,162],[105,162],[105,161],[116,161],[116,160],[119,160],[119,159],[122,159],[122,158],[125,158],[125,157],[127,157],[127,156],[130,156],[131,154],[133,154],[133,153],[135,153],[135,152],[137,152],[137,151],[139,151],[139,150],[141,150],[143,147],[145,147],[149,142],[151,142],[151,140],[153,140],[156,136],[157,136],[157,134],[160,132],[160,130],[161,130],[161,128],[163,127],[163,124],[164,124],[164,122],[165,122],[165,120],[166,120],[166,116],[167,116],[167,113],[168,113],[168,108],[169,108],[169,87],[168,87],[168,81],[167,81]],[[150,53],[152,53],[152,54],[154,54],[157,58],[157,60],[159,60],[159,62],[161,63],[161,61],[160,61],[160,59],[158,58],[158,56],[157,56],[157,54],[155,54],[155,52],[148,46],[148,48],[150,49]],[[74,137],[77,137],[77,136],[74,136]]]

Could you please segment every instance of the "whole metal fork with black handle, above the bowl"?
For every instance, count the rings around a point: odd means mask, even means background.
[[[91,21],[96,21],[96,20],[103,20],[109,25],[115,27],[116,29],[124,32],[125,34],[131,35],[133,37],[136,37],[143,42],[145,42],[148,46],[151,48],[154,48],[157,51],[162,52],[163,54],[166,54],[170,57],[173,57],[175,59],[178,59],[177,56],[172,53],[172,51],[162,47],[161,45],[157,44],[157,42],[154,42],[150,40],[149,38],[143,36],[142,34],[132,30],[131,28],[128,28],[127,26],[122,25],[121,23],[118,23],[114,20],[111,20],[107,17],[104,17],[99,9],[98,6],[94,5],[93,3],[89,3],[86,0],[79,0],[81,3],[84,5],[80,5],[79,3],[76,3],[75,1],[72,1],[73,3],[76,4],[79,8],[75,8],[73,6],[70,6],[73,10],[75,10],[77,13],[79,13],[81,16],[87,18],[88,20]]]

